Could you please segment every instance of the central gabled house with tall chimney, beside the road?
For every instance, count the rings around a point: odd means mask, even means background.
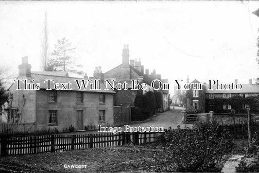
[[[117,83],[121,82],[127,82],[128,83],[128,90],[117,90],[116,95],[114,98],[114,105],[123,105],[123,106],[134,106],[134,100],[136,98],[137,93],[145,94],[148,91],[152,92],[160,92],[161,97],[165,97],[165,104],[168,104],[168,91],[162,91],[162,90],[154,90],[151,87],[151,83],[153,80],[158,79],[161,81],[161,75],[155,74],[155,69],[151,74],[149,74],[149,69],[145,70],[144,74],[144,66],[141,65],[140,58],[137,61],[137,59],[131,59],[129,60],[129,48],[128,45],[124,45],[124,48],[122,50],[122,64],[110,69],[109,71],[104,73],[104,79],[107,80],[116,80]],[[147,89],[146,90],[131,90],[131,80],[137,79],[139,81],[139,84],[146,83]],[[157,87],[157,83],[155,83],[155,87]],[[165,96],[163,95],[165,94]],[[163,102],[163,99],[162,99]],[[163,102],[164,103],[164,102]],[[163,107],[165,107],[165,110],[167,110],[168,106],[163,105],[160,108],[162,111]]]

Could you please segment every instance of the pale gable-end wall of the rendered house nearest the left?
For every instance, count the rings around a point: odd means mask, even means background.
[[[29,82],[29,80],[27,81]],[[9,88],[9,92],[12,94],[12,99],[9,102],[12,104],[12,109],[17,109],[19,114],[14,122],[34,122],[36,120],[35,90],[23,90],[23,87],[21,89],[17,90],[17,82]]]

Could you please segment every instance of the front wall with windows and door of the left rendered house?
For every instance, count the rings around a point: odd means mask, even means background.
[[[83,103],[77,103],[77,91],[57,91],[57,102],[49,103],[48,90],[36,92],[37,130],[66,131],[72,124],[77,130],[77,110],[83,110],[83,126],[113,125],[113,94],[105,94],[105,104],[99,103],[97,92],[83,92]],[[57,125],[49,125],[49,110],[57,110]],[[99,121],[99,110],[105,110],[105,121]]]

